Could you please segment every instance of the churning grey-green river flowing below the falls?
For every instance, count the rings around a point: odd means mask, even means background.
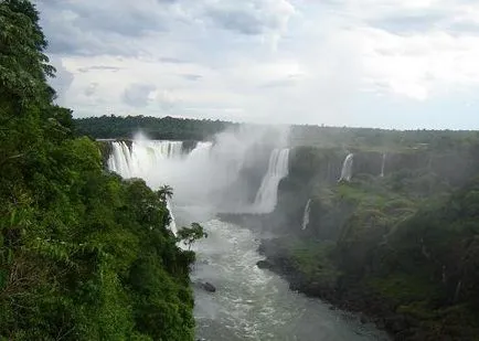
[[[374,327],[294,292],[279,276],[257,268],[259,239],[252,231],[219,220],[202,225],[209,237],[194,247],[198,262],[192,280],[209,281],[216,292],[195,286],[198,339],[388,340]]]

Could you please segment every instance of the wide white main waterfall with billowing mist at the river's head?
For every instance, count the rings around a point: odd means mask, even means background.
[[[170,185],[171,206],[183,213],[178,224],[189,224],[194,206],[207,207],[209,214],[270,212],[276,206],[277,185],[288,173],[287,149],[270,153],[269,169],[259,189],[248,185],[259,168],[252,166],[264,150],[286,146],[285,132],[243,127],[220,132],[214,142],[198,142],[185,152],[182,142],[155,141],[138,136],[131,142],[110,141],[108,167],[124,178],[140,178],[151,189]],[[249,168],[248,168],[249,167]],[[243,172],[243,170],[245,170]],[[255,200],[251,202],[252,190]],[[188,210],[185,209],[188,207]]]

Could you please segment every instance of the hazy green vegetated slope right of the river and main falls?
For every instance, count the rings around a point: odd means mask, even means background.
[[[272,216],[285,225],[266,252],[270,267],[397,340],[479,340],[479,143],[464,138],[390,151],[385,177],[382,152],[356,146],[353,179],[341,183],[345,151],[295,148]]]

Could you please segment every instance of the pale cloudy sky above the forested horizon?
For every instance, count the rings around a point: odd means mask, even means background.
[[[479,129],[479,1],[34,2],[75,117]]]

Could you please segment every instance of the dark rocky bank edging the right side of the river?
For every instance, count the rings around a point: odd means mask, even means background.
[[[477,318],[467,302],[444,302],[436,287],[412,275],[380,277],[366,269],[362,277],[351,276],[338,269],[331,245],[318,244],[316,254],[306,256],[310,251],[296,243],[263,239],[258,252],[265,259],[257,266],[285,278],[294,291],[359,315],[361,322],[374,323],[393,340],[479,340]]]

